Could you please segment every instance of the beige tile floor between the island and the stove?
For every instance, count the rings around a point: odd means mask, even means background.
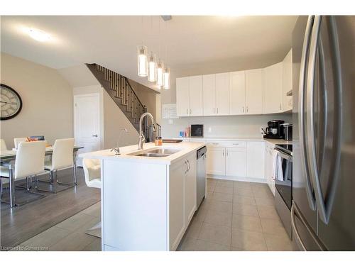
[[[207,179],[178,250],[293,250],[267,184]]]

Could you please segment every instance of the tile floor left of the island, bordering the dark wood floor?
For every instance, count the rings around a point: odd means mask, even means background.
[[[99,221],[100,202],[35,235],[13,250],[100,251],[101,238],[85,233]]]

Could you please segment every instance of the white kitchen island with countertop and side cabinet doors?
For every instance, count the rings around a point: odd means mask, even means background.
[[[102,160],[102,250],[176,250],[197,209],[197,155],[204,143],[144,144],[79,155]],[[156,148],[166,157],[137,156]]]

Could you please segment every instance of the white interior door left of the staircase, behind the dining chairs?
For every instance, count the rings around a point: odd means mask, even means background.
[[[79,153],[89,153],[101,148],[99,94],[74,96],[75,145],[83,146]],[[78,159],[78,166],[82,160]]]

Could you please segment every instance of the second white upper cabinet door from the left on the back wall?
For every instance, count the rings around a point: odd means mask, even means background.
[[[202,76],[193,76],[190,77],[189,80],[190,80],[189,83],[190,116],[202,116],[203,114]]]

